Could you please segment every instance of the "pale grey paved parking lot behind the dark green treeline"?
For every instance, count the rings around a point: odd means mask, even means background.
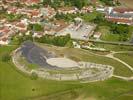
[[[59,31],[56,35],[62,36],[70,34],[71,38],[73,39],[88,40],[89,37],[93,34],[94,29],[94,25],[83,23],[80,27],[77,28],[77,26],[75,26],[75,24],[73,23],[63,30]]]

